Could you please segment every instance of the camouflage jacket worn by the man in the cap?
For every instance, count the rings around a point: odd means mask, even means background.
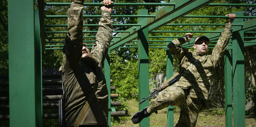
[[[174,86],[190,89],[190,97],[207,100],[212,72],[227,49],[230,34],[231,24],[226,23],[225,29],[221,33],[216,46],[212,49],[212,55],[203,55],[197,50],[192,52],[186,48],[182,48],[181,45],[187,41],[185,37],[170,42],[168,48],[171,54],[180,60],[180,69],[185,67],[191,58],[202,56],[181,72],[179,80],[174,83]]]

